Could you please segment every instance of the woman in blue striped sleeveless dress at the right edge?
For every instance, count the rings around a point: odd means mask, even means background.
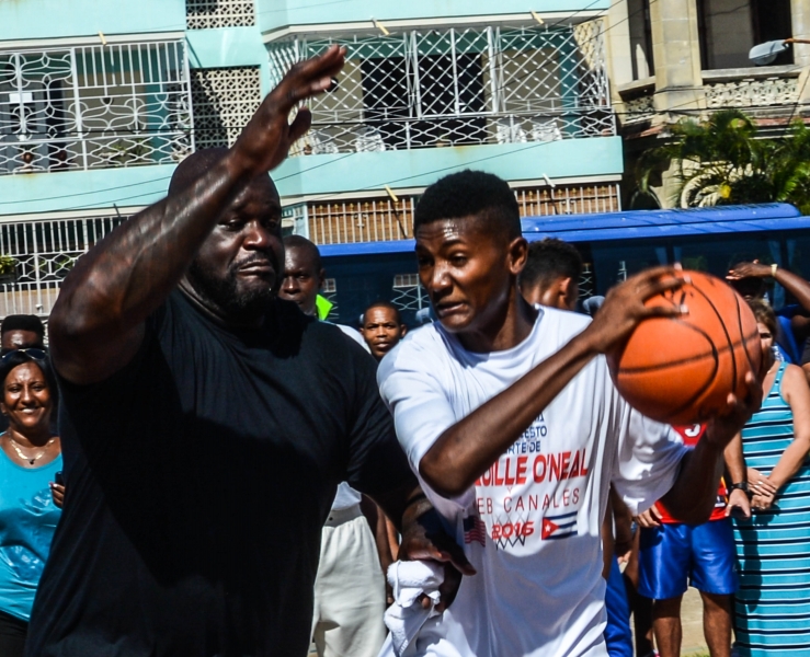
[[[740,587],[735,635],[740,657],[810,654],[810,388],[796,365],[774,358],[776,316],[754,311],[767,374],[762,407],[742,429],[751,518],[734,521]]]

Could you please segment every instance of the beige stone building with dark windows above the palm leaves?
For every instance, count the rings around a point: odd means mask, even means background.
[[[797,118],[810,122],[810,45],[794,44],[767,66],[749,59],[760,44],[810,39],[808,0],[627,0],[612,2],[606,22],[628,177],[639,153],[685,117],[734,107],[765,136],[784,135]],[[626,182],[627,194],[634,185]],[[665,173],[664,203],[672,203],[672,183]]]

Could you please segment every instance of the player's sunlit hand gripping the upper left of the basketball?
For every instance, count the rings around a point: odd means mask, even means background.
[[[688,283],[688,279],[680,266],[662,266],[646,269],[613,288],[586,330],[593,347],[597,353],[605,354],[626,341],[643,320],[686,314],[688,309],[678,303],[644,306],[648,299],[676,290],[684,283]]]

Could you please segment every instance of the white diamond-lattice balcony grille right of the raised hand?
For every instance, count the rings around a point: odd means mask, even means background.
[[[615,135],[603,24],[411,31],[270,44],[273,83],[332,43],[338,85],[308,101],[294,154],[547,142]]]

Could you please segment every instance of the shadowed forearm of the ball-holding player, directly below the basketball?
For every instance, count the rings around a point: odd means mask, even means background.
[[[708,440],[699,440],[684,456],[677,479],[661,502],[682,522],[705,522],[715,507],[722,470],[723,450]]]

